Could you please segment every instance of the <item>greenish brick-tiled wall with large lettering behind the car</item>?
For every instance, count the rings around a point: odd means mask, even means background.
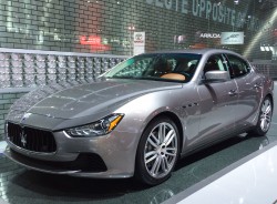
[[[270,60],[275,4],[253,0],[1,0],[0,48],[132,54],[145,31],[146,51],[226,48]],[[276,11],[277,12],[277,11]],[[206,33],[243,31],[245,44],[222,45]]]

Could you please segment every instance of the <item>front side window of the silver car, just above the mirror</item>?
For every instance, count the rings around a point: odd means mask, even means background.
[[[225,61],[223,60],[220,54],[212,55],[207,60],[205,67],[204,67],[204,73],[208,71],[227,71],[227,67]]]

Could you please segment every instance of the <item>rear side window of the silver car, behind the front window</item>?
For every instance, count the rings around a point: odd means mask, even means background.
[[[226,55],[230,63],[230,78],[239,78],[250,72],[250,67],[245,60],[232,54]]]

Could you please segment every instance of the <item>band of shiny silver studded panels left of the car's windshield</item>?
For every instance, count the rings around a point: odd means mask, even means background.
[[[0,49],[0,89],[91,81],[126,58],[126,55]]]

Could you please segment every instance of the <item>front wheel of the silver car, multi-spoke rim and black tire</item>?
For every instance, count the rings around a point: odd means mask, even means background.
[[[144,130],[136,152],[135,177],[147,185],[166,181],[179,154],[179,133],[175,123],[162,116]]]

